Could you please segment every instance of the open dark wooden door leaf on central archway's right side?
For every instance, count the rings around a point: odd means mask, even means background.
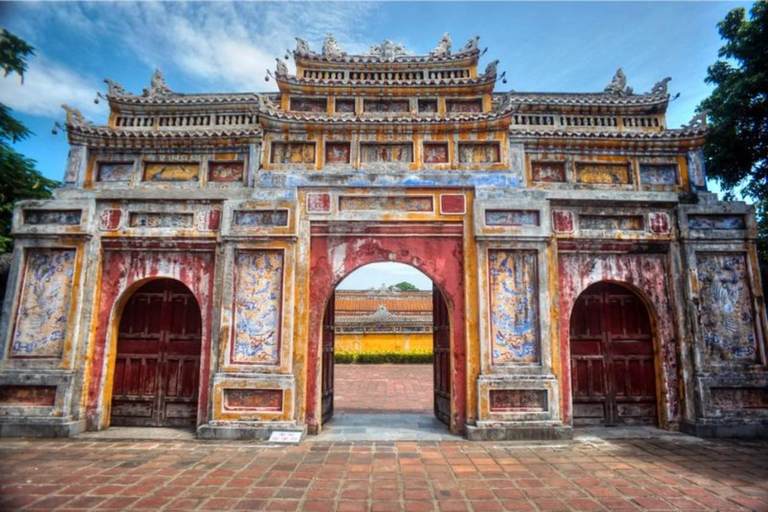
[[[451,424],[451,327],[440,290],[432,290],[432,345],[434,351],[435,416]]]

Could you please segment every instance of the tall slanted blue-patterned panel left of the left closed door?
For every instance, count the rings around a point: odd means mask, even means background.
[[[12,357],[61,357],[67,338],[75,251],[27,252]]]

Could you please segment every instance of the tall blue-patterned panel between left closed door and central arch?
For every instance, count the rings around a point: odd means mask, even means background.
[[[283,253],[243,251],[235,257],[235,364],[278,364]]]

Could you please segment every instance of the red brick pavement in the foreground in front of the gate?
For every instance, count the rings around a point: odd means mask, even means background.
[[[768,444],[0,440],[0,510],[768,510]]]

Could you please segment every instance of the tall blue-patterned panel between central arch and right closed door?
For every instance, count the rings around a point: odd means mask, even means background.
[[[539,361],[535,251],[488,252],[493,364]]]

